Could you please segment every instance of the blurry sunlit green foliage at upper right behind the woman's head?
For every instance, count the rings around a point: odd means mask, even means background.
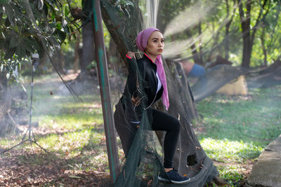
[[[264,61],[273,64],[280,57],[280,1],[252,1],[250,13],[250,37],[254,46],[251,50],[251,67],[261,66]],[[246,1],[242,1],[246,14]],[[143,8],[144,9],[144,8]],[[204,64],[213,62],[219,55],[228,57],[236,66],[242,64],[243,43],[241,18],[237,1],[162,1],[159,4],[157,27],[168,30],[166,43],[182,43],[173,55],[192,59],[194,50]],[[197,10],[197,11],[194,11]],[[200,14],[197,15],[197,12]],[[268,11],[268,12],[267,12]],[[259,17],[259,13],[261,13]],[[178,19],[177,19],[178,17]],[[259,18],[259,20],[258,20]],[[258,20],[258,21],[257,21]],[[227,27],[229,26],[229,27]],[[265,29],[264,34],[263,29]],[[256,34],[254,32],[256,31]],[[226,35],[228,33],[228,35]],[[264,41],[267,58],[261,39]],[[186,41],[183,43],[183,41]],[[191,49],[190,46],[194,44]],[[172,48],[175,48],[173,46]],[[228,48],[228,50],[226,50]],[[249,55],[249,54],[247,54]]]

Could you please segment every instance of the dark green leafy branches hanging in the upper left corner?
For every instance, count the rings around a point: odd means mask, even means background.
[[[6,74],[32,53],[42,57],[59,48],[74,31],[69,8],[61,1],[2,0],[0,15],[0,65]]]

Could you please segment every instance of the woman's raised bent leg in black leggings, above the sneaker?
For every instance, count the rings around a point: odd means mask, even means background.
[[[155,109],[151,109],[151,111],[152,130],[166,131],[164,139],[164,168],[172,168],[181,125],[176,118],[167,113]]]

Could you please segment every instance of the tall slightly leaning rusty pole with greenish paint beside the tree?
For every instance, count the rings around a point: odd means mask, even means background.
[[[100,0],[93,1],[93,36],[96,46],[96,62],[98,65],[98,80],[100,84],[100,97],[103,106],[103,121],[105,125],[105,137],[107,155],[110,165],[110,176],[115,182],[119,174],[119,158],[116,142],[115,125],[113,120],[112,104],[110,99],[110,83],[107,71],[107,59],[105,53],[105,41],[103,37],[103,21],[100,12]]]

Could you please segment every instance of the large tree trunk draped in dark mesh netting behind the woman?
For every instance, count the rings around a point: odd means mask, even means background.
[[[143,10],[138,9],[138,6]],[[144,11],[154,15],[157,8],[152,7],[155,6],[157,6],[156,1],[135,1],[133,5],[113,5],[110,1],[101,1],[103,20],[117,46],[122,46],[118,48],[122,57],[125,57],[127,51],[135,52],[138,59],[142,57],[142,54],[136,50],[136,34],[145,27],[155,26],[153,22],[156,24],[156,21],[146,15],[143,18],[141,13]],[[165,60],[163,63],[170,99],[167,113],[178,118],[181,123],[174,167],[180,174],[187,174],[191,178],[191,181],[183,186],[204,186],[214,179],[218,172],[204,153],[191,127],[190,121],[197,116],[192,93],[181,65]],[[128,80],[122,97],[115,106],[115,127],[122,141],[126,159],[115,186],[174,186],[173,183],[162,183],[157,179],[160,173],[165,174],[162,151],[165,134],[157,132],[156,135],[151,130],[151,109],[164,111],[164,106],[162,102],[150,106],[145,95],[147,83],[138,69],[138,62],[131,60],[127,67]],[[133,89],[128,86],[129,81],[135,83]],[[132,104],[132,97],[141,98],[137,107]],[[138,120],[141,123],[136,125],[130,123]]]

